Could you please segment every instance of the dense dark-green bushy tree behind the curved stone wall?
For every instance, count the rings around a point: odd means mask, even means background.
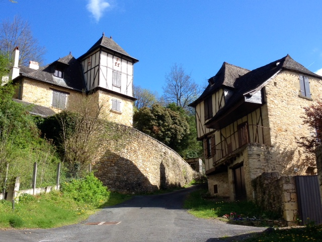
[[[134,127],[180,153],[187,146],[189,124],[180,113],[153,104],[133,115]]]

